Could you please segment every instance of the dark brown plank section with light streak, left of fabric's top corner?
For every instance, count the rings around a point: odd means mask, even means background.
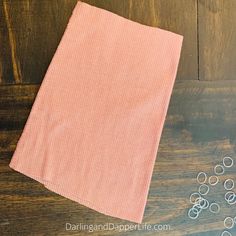
[[[76,2],[1,1],[1,83],[42,81]]]

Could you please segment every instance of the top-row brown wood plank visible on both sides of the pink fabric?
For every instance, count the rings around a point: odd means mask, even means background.
[[[0,82],[41,83],[77,0],[0,3]],[[146,25],[185,36],[178,79],[197,79],[195,0],[87,0]],[[3,48],[3,47],[2,47]]]

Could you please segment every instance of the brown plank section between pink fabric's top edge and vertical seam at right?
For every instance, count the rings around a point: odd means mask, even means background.
[[[177,79],[198,79],[195,0],[83,0],[139,23],[184,35]]]

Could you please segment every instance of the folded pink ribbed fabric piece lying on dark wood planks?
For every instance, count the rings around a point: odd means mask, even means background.
[[[141,223],[182,41],[78,2],[9,166]]]

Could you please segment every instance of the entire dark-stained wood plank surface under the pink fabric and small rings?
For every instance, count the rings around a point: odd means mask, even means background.
[[[0,0],[0,235],[87,235],[66,222],[128,224],[60,197],[8,167],[47,67],[77,0]],[[208,200],[219,214],[187,217],[199,171],[213,174],[236,152],[236,1],[86,0],[140,23],[184,35],[143,223],[169,231],[95,231],[91,235],[220,235],[236,207],[223,200],[220,177]],[[235,159],[236,162],[236,159]],[[231,229],[236,235],[236,227]]]

